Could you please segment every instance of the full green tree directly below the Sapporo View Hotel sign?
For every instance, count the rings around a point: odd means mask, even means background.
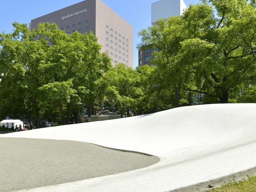
[[[48,61],[42,65],[47,82],[40,90],[52,95],[58,103],[62,124],[70,123],[70,116],[80,122],[81,109],[87,111],[98,99],[94,82],[109,70],[110,58],[100,53],[101,45],[90,32],[66,34],[56,24],[39,24],[36,30],[41,40],[50,43]],[[90,114],[89,114],[90,115]]]

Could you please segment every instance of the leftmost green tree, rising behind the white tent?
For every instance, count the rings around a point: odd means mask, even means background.
[[[13,33],[0,35],[2,113],[12,118],[16,114],[17,118],[29,112],[26,117],[34,116],[39,126],[37,89],[42,84],[37,64],[45,58],[44,45],[34,42],[26,24],[15,22],[13,26]]]

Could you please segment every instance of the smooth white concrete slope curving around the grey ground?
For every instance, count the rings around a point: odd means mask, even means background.
[[[3,134],[88,142],[158,156],[128,172],[23,192],[198,192],[256,174],[256,104],[209,104]]]

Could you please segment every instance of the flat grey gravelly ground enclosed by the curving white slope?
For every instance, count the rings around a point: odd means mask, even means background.
[[[90,143],[0,138],[0,191],[74,182],[150,166],[155,156]]]

